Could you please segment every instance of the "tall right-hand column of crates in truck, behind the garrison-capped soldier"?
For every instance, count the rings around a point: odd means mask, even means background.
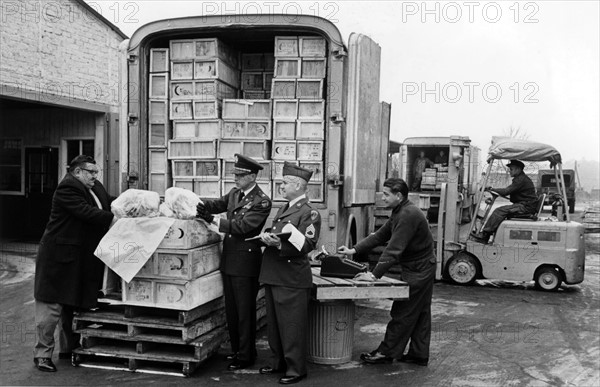
[[[325,39],[320,37],[275,37],[273,200],[284,200],[279,189],[281,171],[289,161],[314,171],[308,196],[323,201],[326,52]]]

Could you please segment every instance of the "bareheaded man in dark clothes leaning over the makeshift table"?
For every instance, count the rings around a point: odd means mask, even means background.
[[[342,254],[365,254],[388,242],[373,272],[359,273],[355,279],[374,281],[399,264],[402,280],[409,286],[409,299],[394,301],[385,338],[379,347],[363,353],[361,359],[379,364],[398,359],[426,366],[431,339],[431,298],[435,277],[433,237],[423,212],[408,199],[408,186],[402,179],[388,179],[383,184],[383,200],[392,209],[390,219],[374,234],[354,248],[341,246]],[[410,340],[408,353],[404,354]]]

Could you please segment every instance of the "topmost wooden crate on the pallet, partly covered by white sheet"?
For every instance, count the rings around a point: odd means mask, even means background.
[[[159,249],[193,249],[221,241],[221,236],[209,229],[206,222],[198,219],[176,219]]]

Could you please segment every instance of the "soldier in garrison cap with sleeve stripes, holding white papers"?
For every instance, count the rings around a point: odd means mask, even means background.
[[[284,163],[283,197],[289,201],[273,220],[269,232],[261,234],[267,245],[259,281],[265,284],[269,347],[273,355],[261,374],[285,373],[281,384],[292,384],[306,377],[308,301],[312,273],[308,253],[315,249],[321,229],[321,216],[306,197],[312,171]],[[295,229],[289,238],[299,236],[295,247],[290,240],[275,234]],[[285,229],[284,229],[285,227]],[[296,231],[297,230],[297,231]]]

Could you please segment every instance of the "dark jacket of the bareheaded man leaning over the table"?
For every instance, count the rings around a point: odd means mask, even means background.
[[[373,269],[373,274],[378,278],[395,263],[410,269],[423,261],[435,262],[433,236],[427,219],[408,199],[394,207],[388,221],[377,232],[358,242],[354,249],[357,253],[364,254],[385,242],[388,245]]]

